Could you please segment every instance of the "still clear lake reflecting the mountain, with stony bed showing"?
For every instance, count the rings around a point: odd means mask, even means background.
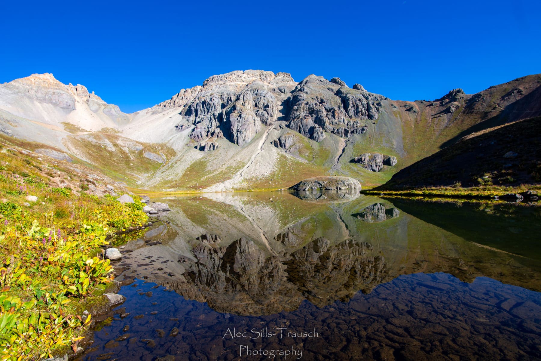
[[[127,245],[127,301],[81,359],[541,358],[537,207],[347,193],[163,201],[171,223],[147,237],[162,244]]]

